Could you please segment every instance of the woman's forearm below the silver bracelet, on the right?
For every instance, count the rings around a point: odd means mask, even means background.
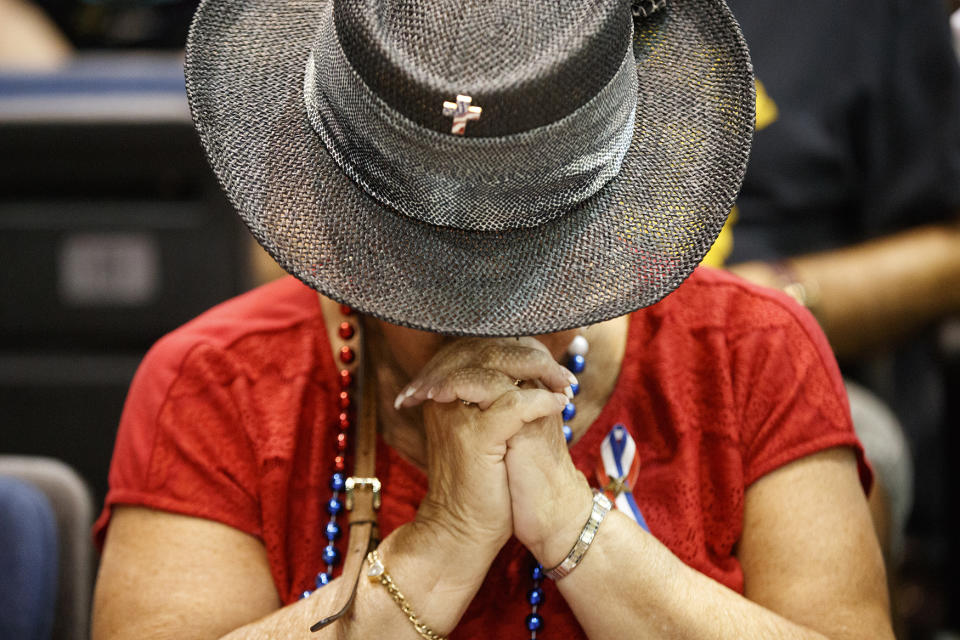
[[[688,567],[619,512],[607,516],[583,561],[557,586],[590,638],[827,637]],[[858,625],[843,637],[883,637],[872,629]]]

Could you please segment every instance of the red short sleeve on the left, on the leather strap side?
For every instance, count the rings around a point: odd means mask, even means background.
[[[243,428],[247,385],[240,363],[196,335],[174,333],[150,350],[121,417],[98,546],[117,504],[260,535],[256,456]]]

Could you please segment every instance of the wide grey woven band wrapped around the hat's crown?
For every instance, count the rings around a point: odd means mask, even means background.
[[[418,125],[370,90],[328,10],[307,60],[304,100],[327,151],[368,194],[422,222],[500,231],[557,218],[617,175],[633,140],[636,62],[628,45],[607,85],[549,125],[502,137],[453,136]]]

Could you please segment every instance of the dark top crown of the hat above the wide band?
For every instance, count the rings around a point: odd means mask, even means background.
[[[450,133],[443,102],[469,95],[469,137],[556,122],[593,98],[631,46],[624,0],[340,0],[337,37],[370,90],[413,122]]]

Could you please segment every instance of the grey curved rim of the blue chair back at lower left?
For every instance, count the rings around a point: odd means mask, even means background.
[[[24,480],[50,501],[59,533],[59,583],[53,640],[87,640],[93,593],[93,501],[80,476],[52,458],[0,456],[0,475]]]

